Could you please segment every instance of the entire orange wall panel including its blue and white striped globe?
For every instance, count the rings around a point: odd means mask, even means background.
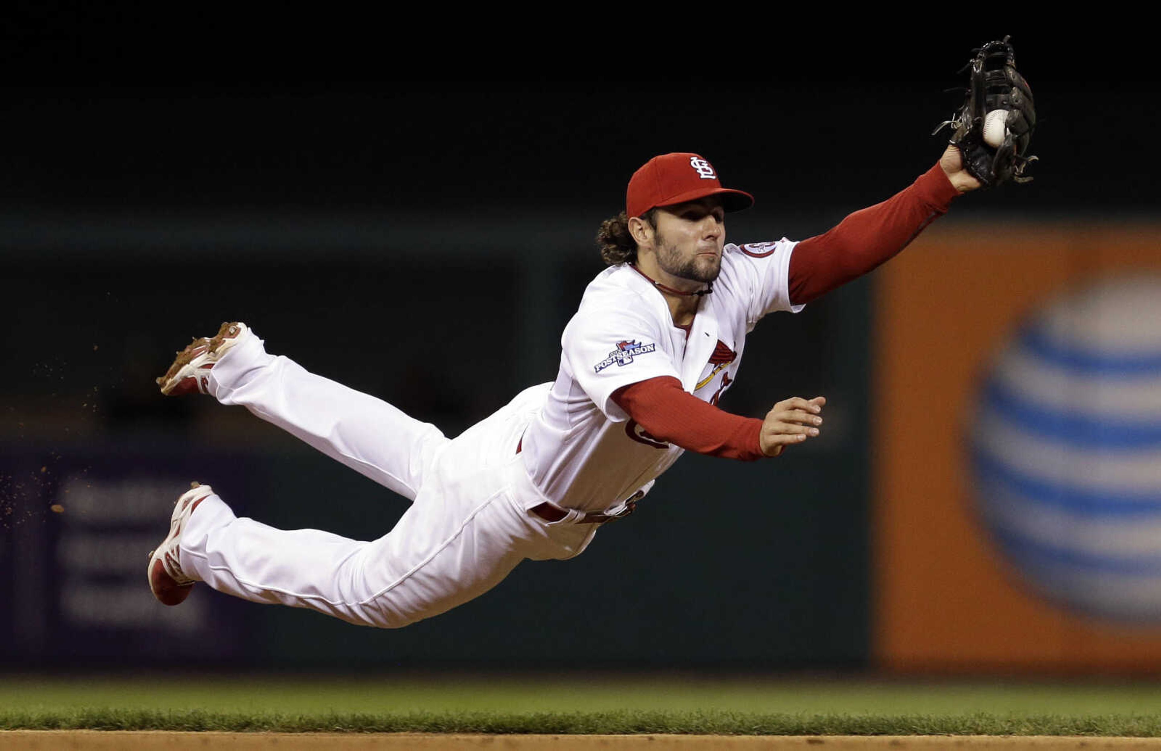
[[[945,223],[877,279],[873,665],[1161,667],[1161,228]]]

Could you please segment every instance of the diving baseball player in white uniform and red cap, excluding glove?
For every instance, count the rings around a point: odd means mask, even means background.
[[[394,529],[359,541],[238,517],[194,483],[151,554],[150,588],[176,605],[204,582],[398,628],[482,594],[526,558],[579,555],[684,452],[762,461],[817,435],[821,396],[784,399],[760,419],[717,407],[747,334],[872,270],[978,187],[949,146],[909,187],[824,234],[735,245],[726,215],[749,207],[750,194],[723,188],[699,154],[655,157],[629,180],[625,211],[600,229],[608,267],[564,328],[556,380],[453,439],[225,323],[179,353],[158,378],[163,393],[240,404],[411,506]]]

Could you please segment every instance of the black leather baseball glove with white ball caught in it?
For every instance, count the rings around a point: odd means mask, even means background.
[[[967,98],[956,115],[936,128],[939,132],[951,125],[954,132],[951,144],[959,149],[964,166],[985,187],[1014,182],[1029,182],[1032,178],[1024,169],[1036,157],[1026,157],[1032,131],[1036,129],[1036,106],[1032,89],[1024,77],[1016,72],[1015,52],[1005,36],[1001,42],[988,42],[960,71],[971,72]],[[988,132],[988,114],[996,115]],[[998,122],[1000,118],[1002,121]],[[932,133],[933,135],[933,133]],[[988,137],[993,145],[989,145]]]

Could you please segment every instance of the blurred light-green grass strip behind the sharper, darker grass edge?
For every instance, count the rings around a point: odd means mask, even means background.
[[[0,707],[222,713],[1155,714],[1161,683],[699,678],[230,677],[0,678]]]

